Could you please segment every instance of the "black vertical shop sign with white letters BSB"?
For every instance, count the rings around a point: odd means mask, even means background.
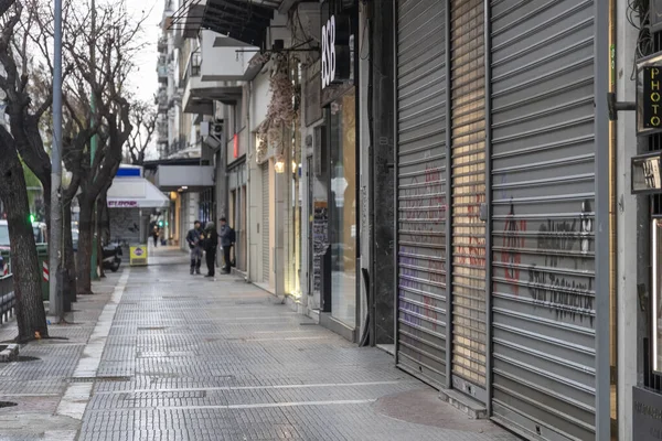
[[[331,15],[322,25],[322,89],[350,79],[352,67],[350,21]]]

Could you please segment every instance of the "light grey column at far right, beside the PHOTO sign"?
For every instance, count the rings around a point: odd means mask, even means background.
[[[638,31],[628,22],[627,2],[617,1],[617,99],[634,101],[631,80]],[[639,308],[638,286],[648,284],[648,197],[631,193],[631,158],[644,150],[637,141],[636,114],[621,111],[617,121],[617,305],[619,440],[632,440],[632,387],[642,383],[645,316]],[[637,238],[637,240],[632,240]],[[643,251],[643,252],[642,252]]]

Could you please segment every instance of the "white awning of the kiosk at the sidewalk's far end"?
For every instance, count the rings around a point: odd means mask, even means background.
[[[167,208],[170,200],[145,178],[115,178],[108,208]]]

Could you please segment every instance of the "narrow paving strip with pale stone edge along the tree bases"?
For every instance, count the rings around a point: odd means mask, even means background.
[[[74,440],[81,420],[58,411],[76,365],[84,356],[99,315],[120,273],[95,282],[95,295],[79,298],[70,324],[51,324],[51,338],[31,342],[20,349],[21,361],[0,363],[0,401],[18,406],[0,409],[0,440]],[[0,341],[17,336],[15,321],[0,326]]]

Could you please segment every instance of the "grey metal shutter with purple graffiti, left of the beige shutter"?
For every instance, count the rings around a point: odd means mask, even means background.
[[[398,367],[446,384],[446,54],[438,0],[397,0]]]

